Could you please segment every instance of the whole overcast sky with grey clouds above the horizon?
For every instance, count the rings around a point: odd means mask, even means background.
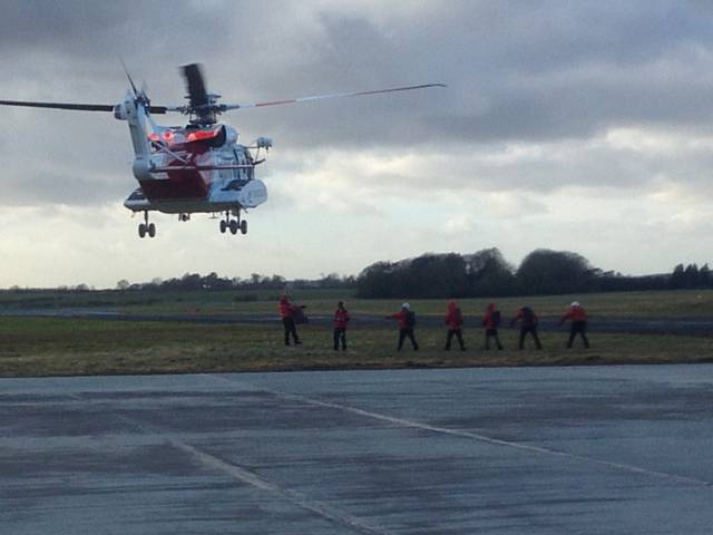
[[[0,99],[154,104],[202,62],[223,101],[446,82],[223,116],[274,139],[247,236],[157,214],[139,240],[128,128],[0,108],[0,286],[186,272],[316,278],[379,260],[568,250],[627,274],[713,261],[713,8],[622,1],[3,2]],[[162,121],[179,124],[180,116]]]

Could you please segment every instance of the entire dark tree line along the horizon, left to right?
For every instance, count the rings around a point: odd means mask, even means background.
[[[287,289],[349,289],[363,299],[447,299],[509,295],[547,295],[564,293],[680,290],[713,288],[709,264],[677,264],[671,273],[631,276],[592,266],[580,254],[538,249],[519,266],[507,262],[496,247],[473,254],[428,253],[399,262],[377,262],[358,276],[322,274],[319,279],[289,281],[282,275],[253,273],[246,279],[185,273],[167,280],[130,283],[117,282],[119,291],[229,291]],[[11,291],[21,291],[13,286]],[[29,290],[29,289],[28,289]],[[86,284],[60,286],[66,292],[90,292]]]

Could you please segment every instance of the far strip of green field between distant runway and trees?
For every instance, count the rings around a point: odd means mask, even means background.
[[[0,308],[21,309],[97,309],[131,313],[209,315],[276,313],[280,292],[261,291],[97,291],[97,292],[0,292]],[[402,300],[355,299],[353,290],[297,290],[292,299],[305,303],[311,313],[328,314],[336,301],[345,300],[352,313],[385,314],[399,309]],[[498,303],[506,317],[522,304],[540,315],[561,314],[572,301],[580,301],[590,315],[645,318],[713,318],[713,290],[677,290],[662,292],[590,293],[525,298],[462,299],[459,304],[467,315],[481,315],[488,302]],[[448,300],[409,300],[420,314],[441,314]]]

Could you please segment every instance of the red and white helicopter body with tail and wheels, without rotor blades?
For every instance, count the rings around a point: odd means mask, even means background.
[[[131,171],[139,187],[124,206],[144,213],[141,237],[155,233],[148,223],[152,211],[179,214],[182,221],[192,213],[224,213],[222,232],[247,232],[241,212],[267,201],[255,166],[263,162],[257,159],[260,150],[272,146],[270,139],[260,138],[247,147],[237,143],[237,132],[227,125],[159,126],[129,95],[115,108],[115,117],[129,124],[136,156]]]

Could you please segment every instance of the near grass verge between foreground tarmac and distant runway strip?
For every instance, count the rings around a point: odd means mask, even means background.
[[[445,330],[423,328],[420,351],[407,341],[397,352],[398,332],[384,325],[351,330],[348,351],[335,352],[331,329],[300,331],[304,344],[287,348],[279,324],[0,318],[0,377],[713,362],[713,340],[682,335],[592,334],[590,349],[567,350],[561,331],[543,333],[541,351],[518,351],[517,331],[504,329],[506,349],[485,351],[473,329],[467,351],[445,351]]]

